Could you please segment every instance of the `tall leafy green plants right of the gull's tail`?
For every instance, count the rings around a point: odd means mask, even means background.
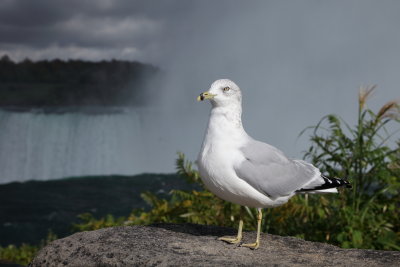
[[[327,233],[330,242],[345,248],[399,250],[400,140],[390,144],[398,131],[386,129],[389,122],[399,122],[399,106],[391,101],[377,113],[366,108],[373,89],[360,91],[354,127],[338,116],[328,115],[310,128],[311,146],[305,157],[323,172],[349,179],[353,188],[339,197],[312,196],[309,207],[322,209],[313,221],[325,221],[315,229]],[[329,199],[328,206],[322,203],[324,198]],[[310,215],[305,218],[311,219]],[[303,228],[306,238],[321,240],[321,236],[306,230]]]

